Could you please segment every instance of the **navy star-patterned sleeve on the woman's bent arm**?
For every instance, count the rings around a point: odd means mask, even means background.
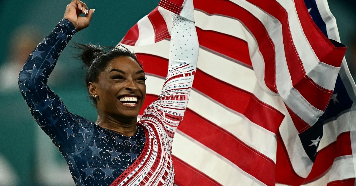
[[[63,142],[69,135],[74,136],[73,126],[69,126],[73,117],[58,95],[49,89],[47,79],[75,32],[74,25],[62,19],[30,54],[19,74],[20,91],[33,118],[57,143]]]

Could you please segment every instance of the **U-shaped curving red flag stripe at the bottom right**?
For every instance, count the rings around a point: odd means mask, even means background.
[[[318,179],[333,165],[338,156],[351,155],[350,132],[341,133],[337,141],[321,149],[316,155],[312,171],[307,179],[303,179],[294,172],[281,135],[277,134],[277,163],[276,182],[287,185],[302,185]]]

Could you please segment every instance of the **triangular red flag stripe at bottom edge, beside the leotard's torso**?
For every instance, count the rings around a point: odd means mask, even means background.
[[[174,182],[176,182],[177,185],[221,185],[203,172],[199,171],[198,169],[195,169],[194,167],[190,166],[189,164],[185,163],[174,155],[172,155],[172,160],[175,172]]]

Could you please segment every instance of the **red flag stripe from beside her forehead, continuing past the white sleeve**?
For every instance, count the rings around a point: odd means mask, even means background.
[[[167,59],[150,54],[136,54],[137,58],[143,61],[146,73],[165,76],[168,69]],[[194,88],[273,133],[278,131],[284,118],[281,112],[258,100],[252,93],[214,78],[200,69],[195,73]]]

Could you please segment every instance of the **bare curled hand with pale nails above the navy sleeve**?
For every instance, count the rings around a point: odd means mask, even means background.
[[[89,26],[94,10],[88,10],[87,5],[83,1],[73,0],[67,5],[63,18],[72,22],[77,31],[80,31]],[[82,13],[85,14],[85,17],[79,17]]]

